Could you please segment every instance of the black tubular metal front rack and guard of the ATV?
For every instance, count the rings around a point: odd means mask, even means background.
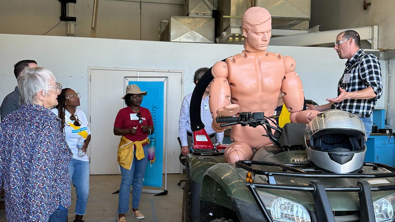
[[[316,209],[316,214],[318,222],[335,222],[335,216],[333,215],[331,205],[329,203],[328,196],[326,192],[358,192],[359,195],[359,207],[360,207],[360,221],[361,222],[372,222],[375,221],[373,200],[371,191],[387,191],[395,190],[395,185],[385,185],[385,186],[370,186],[367,181],[358,181],[357,186],[324,186],[320,181],[310,181],[309,186],[295,186],[295,185],[282,185],[276,184],[274,176],[283,177],[302,177],[302,178],[361,178],[361,179],[371,179],[371,178],[387,178],[395,177],[395,168],[387,166],[386,164],[370,163],[366,162],[363,166],[371,166],[373,169],[378,169],[378,167],[385,168],[391,173],[376,173],[376,174],[362,174],[362,173],[350,173],[350,174],[339,174],[339,173],[308,173],[303,169],[298,169],[295,167],[307,167],[308,164],[283,164],[283,163],[273,163],[273,162],[263,162],[263,161],[251,161],[251,160],[241,160],[235,163],[236,167],[250,171],[253,175],[266,175],[268,183],[258,183],[258,182],[247,182],[246,186],[252,193],[256,203],[265,219],[268,222],[273,222],[269,211],[263,204],[257,192],[257,188],[263,189],[275,189],[275,190],[294,190],[294,191],[305,191],[311,192],[314,205]],[[282,172],[278,171],[265,171],[254,169],[251,165],[260,166],[274,166],[282,167]],[[292,172],[286,172],[286,171]],[[311,215],[310,215],[311,216]],[[312,217],[311,217],[312,218]]]

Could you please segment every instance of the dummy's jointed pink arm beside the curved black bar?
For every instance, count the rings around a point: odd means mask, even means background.
[[[226,62],[217,62],[212,68],[214,77],[209,90],[209,106],[211,116],[213,117],[213,130],[223,132],[225,128],[215,122],[219,115],[231,117],[239,112],[239,105],[230,102],[230,86],[228,82],[228,64]]]

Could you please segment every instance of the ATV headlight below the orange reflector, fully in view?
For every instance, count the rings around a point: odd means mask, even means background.
[[[310,214],[305,206],[258,191],[267,211],[276,222],[310,222]]]

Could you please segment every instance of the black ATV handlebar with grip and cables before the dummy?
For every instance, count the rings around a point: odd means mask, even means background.
[[[222,123],[222,122],[227,122],[226,124],[220,124],[221,127],[226,127],[226,126],[232,126],[232,125],[237,125],[240,124],[241,126],[252,126],[256,128],[257,126],[266,126],[263,127],[266,131],[265,135],[262,136],[267,136],[273,143],[277,143],[278,138],[273,135],[271,130],[273,129],[276,130],[280,133],[282,133],[282,130],[280,126],[273,120],[265,117],[265,113],[263,112],[257,112],[257,113],[251,113],[251,112],[241,112],[239,117],[217,117],[215,120],[217,123]],[[270,125],[270,122],[273,122],[276,127]]]

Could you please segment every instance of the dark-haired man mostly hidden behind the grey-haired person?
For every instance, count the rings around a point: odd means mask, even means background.
[[[26,67],[37,67],[37,62],[34,60],[22,60],[17,62],[17,64],[14,65],[15,78],[18,79],[19,74]],[[19,93],[18,87],[15,87],[15,90],[4,98],[0,107],[1,120],[3,120],[4,117],[6,117],[6,115],[12,113],[13,111],[21,107],[21,105],[19,104],[20,96],[21,94]]]

